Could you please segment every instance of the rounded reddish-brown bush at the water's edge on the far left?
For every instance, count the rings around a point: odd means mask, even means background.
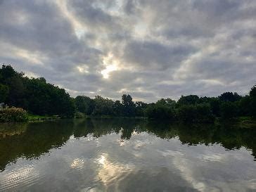
[[[23,108],[3,108],[0,110],[0,122],[26,122],[27,112]]]

